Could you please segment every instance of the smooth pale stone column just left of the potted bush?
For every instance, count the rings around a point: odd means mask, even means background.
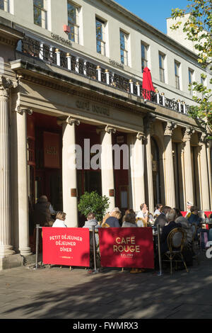
[[[77,147],[76,126],[80,121],[71,117],[63,125],[62,147],[62,184],[63,184],[63,210],[66,213],[67,227],[78,227],[78,193],[77,193]],[[81,155],[78,156],[81,159]],[[80,162],[80,161],[78,161]]]

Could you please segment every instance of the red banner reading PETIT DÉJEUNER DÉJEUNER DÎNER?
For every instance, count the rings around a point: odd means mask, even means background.
[[[43,227],[44,264],[90,266],[90,236],[87,228]]]

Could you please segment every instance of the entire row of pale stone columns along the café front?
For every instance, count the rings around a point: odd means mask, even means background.
[[[0,76],[0,258],[14,253],[11,239],[11,162],[10,162],[10,135],[9,135],[9,91],[16,87],[17,82],[5,79]],[[27,178],[27,113],[31,113],[28,108],[16,108],[16,149],[17,152],[17,201],[13,205],[13,210],[17,214],[18,221],[18,250],[23,256],[31,254],[29,247],[29,224],[28,224],[28,178]],[[150,123],[150,122],[149,122]],[[148,123],[148,124],[149,124]],[[70,216],[70,227],[77,226],[77,176],[76,168],[71,168],[69,158],[73,152],[70,147],[75,145],[76,126],[79,120],[67,118],[63,123],[63,201],[64,211]],[[146,126],[146,135],[142,132],[131,135],[130,142],[133,149],[130,155],[130,179],[131,197],[134,210],[138,211],[145,198],[144,179],[144,145],[146,141],[146,161],[147,161],[147,186],[148,205],[153,212],[153,175],[151,159],[151,130]],[[175,207],[175,178],[172,158],[172,131],[175,125],[167,122],[164,132],[165,144],[165,203]],[[114,208],[114,170],[112,162],[112,134],[114,128],[107,126],[101,130],[102,154],[102,195],[110,196],[110,208]],[[190,139],[192,130],[187,128],[184,133],[184,179],[186,200],[194,199],[194,189],[192,182],[192,161]],[[200,140],[200,167],[201,167],[201,201],[202,210],[210,210],[210,195],[208,187],[208,156],[206,137],[201,135]],[[107,167],[104,167],[107,166]],[[139,166],[139,167],[138,167]],[[211,184],[211,183],[210,183]],[[210,185],[211,186],[211,185]],[[17,250],[17,249],[16,249]]]

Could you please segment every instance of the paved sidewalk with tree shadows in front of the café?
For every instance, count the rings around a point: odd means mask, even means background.
[[[104,269],[31,269],[0,272],[0,319],[212,318],[212,259],[189,273],[131,274]]]

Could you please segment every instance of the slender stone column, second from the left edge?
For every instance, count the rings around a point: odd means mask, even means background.
[[[18,165],[18,236],[19,251],[22,256],[32,254],[29,247],[29,214],[28,214],[28,159],[27,159],[27,113],[30,108],[16,108],[17,124],[17,165]]]

